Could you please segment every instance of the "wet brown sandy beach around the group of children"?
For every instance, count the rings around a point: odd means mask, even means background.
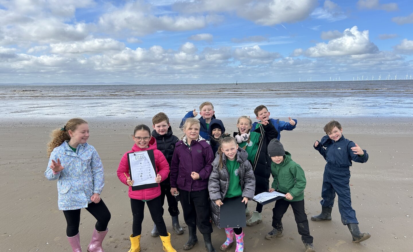
[[[123,153],[133,145],[130,137],[133,127],[138,123],[151,125],[151,120],[119,122],[107,118],[84,119],[88,120],[90,127],[88,143],[95,146],[105,167],[105,186],[101,197],[112,214],[103,247],[107,252],[126,252],[130,246],[128,236],[131,234],[132,214],[127,187],[117,178],[116,169]],[[220,119],[227,132],[235,131],[235,118]],[[342,225],[337,198],[332,210],[332,221],[310,220],[311,215],[321,210],[319,201],[325,165],[325,160],[312,148],[312,144],[323,137],[322,127],[330,119],[297,118],[295,130],[281,132],[285,149],[292,153],[292,159],[306,173],[305,205],[314,247],[318,252],[413,251],[413,118],[337,119],[343,126],[343,135],[369,153],[367,163],[354,163],[351,167],[352,204],[361,231],[368,231],[372,235],[360,244],[351,242],[347,226]],[[48,181],[43,174],[48,161],[46,144],[50,139],[49,134],[53,129],[63,127],[66,120],[0,120],[1,251],[71,251],[66,239],[66,221],[62,211],[57,208],[56,181]],[[176,135],[181,136],[182,132],[177,128],[179,122],[177,119],[171,120],[171,125]],[[250,210],[254,209],[255,203],[249,205]],[[284,236],[271,241],[264,238],[272,229],[272,207],[272,204],[264,206],[261,224],[244,229],[245,251],[304,251],[291,209],[283,218]],[[171,227],[170,216],[165,212],[164,219],[171,232],[172,245],[176,250],[184,251],[182,246],[188,239],[188,228],[182,214],[179,217],[185,233],[177,235]],[[84,252],[94,224],[95,219],[82,210],[79,230]],[[142,224],[142,251],[162,250],[160,238],[150,236],[152,225],[146,208]],[[205,251],[199,232],[198,239],[199,244],[191,252]],[[214,226],[214,247],[219,249],[224,240],[223,229]],[[235,248],[230,251],[233,250]]]

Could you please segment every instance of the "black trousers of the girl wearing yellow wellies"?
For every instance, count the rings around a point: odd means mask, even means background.
[[[162,217],[161,198],[158,196],[152,200],[142,201],[131,199],[131,209],[133,215],[132,234],[133,237],[142,233],[143,210],[145,203],[148,205],[149,212],[154,221],[160,236],[167,236],[164,218]]]

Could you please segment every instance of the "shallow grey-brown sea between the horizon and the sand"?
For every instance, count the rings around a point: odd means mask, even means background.
[[[266,105],[272,118],[410,117],[413,80],[160,85],[0,84],[0,118],[182,118],[204,101],[217,118],[250,115]]]

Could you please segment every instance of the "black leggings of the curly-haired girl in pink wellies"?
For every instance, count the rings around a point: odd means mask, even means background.
[[[96,218],[96,230],[99,232],[106,231],[107,224],[110,220],[110,212],[103,203],[103,200],[101,199],[99,203],[89,203],[85,209]],[[79,233],[80,209],[63,210],[63,214],[67,223],[66,236],[76,236]]]

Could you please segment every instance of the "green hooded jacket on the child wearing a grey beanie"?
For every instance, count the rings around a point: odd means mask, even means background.
[[[288,201],[304,199],[304,188],[306,188],[307,183],[306,176],[301,166],[291,159],[289,152],[285,152],[284,160],[279,165],[271,162],[271,174],[274,178],[271,188],[283,193],[290,193],[293,199]]]

